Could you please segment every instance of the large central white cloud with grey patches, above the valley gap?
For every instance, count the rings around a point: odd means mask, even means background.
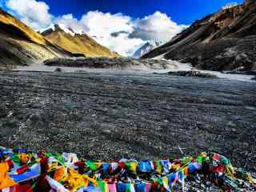
[[[146,41],[167,42],[185,27],[159,11],[135,20],[123,14],[90,11],[82,16],[81,22],[89,29],[90,36],[96,36],[102,45],[124,55],[133,54]]]

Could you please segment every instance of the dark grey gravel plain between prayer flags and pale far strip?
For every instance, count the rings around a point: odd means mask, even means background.
[[[256,170],[256,84],[165,74],[0,72],[0,145],[102,160],[226,155]]]

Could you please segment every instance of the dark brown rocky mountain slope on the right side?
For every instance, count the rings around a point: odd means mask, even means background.
[[[142,58],[190,62],[203,70],[256,70],[256,5],[246,0],[194,22]]]

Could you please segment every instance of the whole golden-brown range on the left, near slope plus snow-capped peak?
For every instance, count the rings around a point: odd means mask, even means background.
[[[29,65],[49,58],[116,57],[86,34],[57,25],[42,34],[0,9],[0,69]]]

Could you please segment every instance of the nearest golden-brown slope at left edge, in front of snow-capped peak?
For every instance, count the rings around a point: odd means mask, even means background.
[[[70,55],[0,9],[0,69]]]

